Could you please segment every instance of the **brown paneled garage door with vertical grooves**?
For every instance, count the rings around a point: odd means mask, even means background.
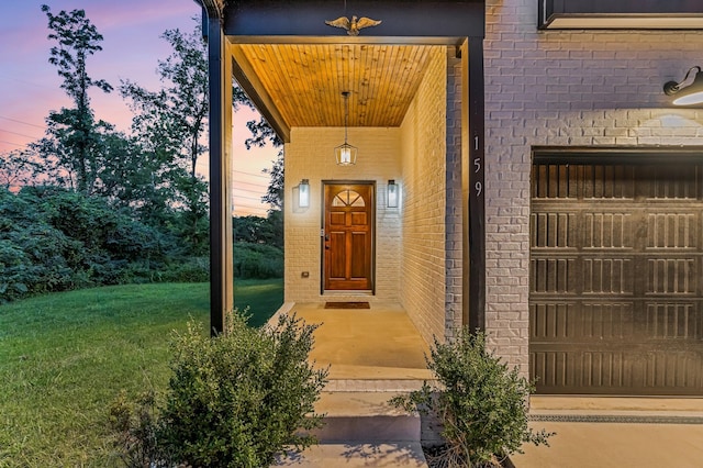
[[[702,175],[690,160],[535,158],[537,392],[703,394]]]

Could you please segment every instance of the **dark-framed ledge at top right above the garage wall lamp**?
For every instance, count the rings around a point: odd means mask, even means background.
[[[700,0],[539,0],[540,30],[700,30]]]

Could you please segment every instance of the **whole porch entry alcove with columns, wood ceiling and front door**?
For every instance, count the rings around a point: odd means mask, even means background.
[[[212,328],[233,300],[233,79],[284,143],[287,303],[399,304],[429,343],[483,326],[484,1],[199,2],[210,48]],[[373,24],[328,25],[341,18]],[[338,166],[334,148],[347,136],[358,158]],[[310,203],[293,207],[303,179]],[[387,203],[391,180],[398,204]]]

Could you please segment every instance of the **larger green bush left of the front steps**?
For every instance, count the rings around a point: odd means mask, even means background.
[[[259,468],[315,442],[300,430],[322,424],[313,405],[327,370],[308,361],[316,326],[293,315],[250,328],[235,313],[220,336],[197,328],[176,336],[161,404],[123,399],[111,410],[129,466]]]

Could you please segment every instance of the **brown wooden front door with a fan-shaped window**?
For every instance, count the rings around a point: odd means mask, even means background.
[[[326,183],[325,290],[371,290],[373,186]]]

